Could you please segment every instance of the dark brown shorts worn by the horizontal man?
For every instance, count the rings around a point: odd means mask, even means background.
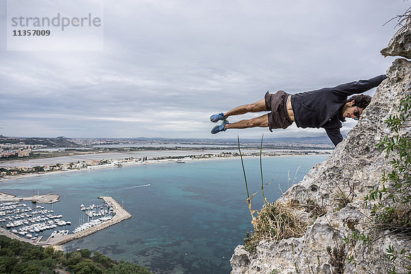
[[[270,132],[276,128],[286,129],[292,124],[287,112],[288,95],[284,90],[278,90],[274,94],[267,91],[264,95],[266,109],[271,110],[268,114]]]

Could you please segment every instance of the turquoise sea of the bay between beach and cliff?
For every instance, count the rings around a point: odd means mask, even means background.
[[[263,158],[264,182],[275,178],[265,187],[266,198],[277,199],[293,181],[299,182],[314,164],[325,158]],[[252,207],[260,209],[260,159],[245,158],[244,162],[250,195],[258,192],[251,201]],[[150,186],[142,186],[147,184]],[[64,249],[99,251],[115,260],[147,266],[154,273],[229,273],[234,248],[243,243],[247,231],[252,229],[240,158],[141,164],[12,179],[2,182],[0,191],[18,196],[37,192],[60,195],[53,210],[73,223],[71,230],[82,219],[82,203],[97,205],[102,201],[97,199],[99,196],[114,197],[124,203],[132,219],[69,242]]]

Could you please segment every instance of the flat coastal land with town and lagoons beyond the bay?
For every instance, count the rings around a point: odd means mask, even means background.
[[[242,144],[242,155],[260,155],[258,142]],[[264,144],[262,156],[328,154],[322,142]],[[239,157],[232,141],[159,139],[69,139],[14,138],[0,136],[0,180],[14,176],[121,167],[160,162],[185,163],[192,160]]]

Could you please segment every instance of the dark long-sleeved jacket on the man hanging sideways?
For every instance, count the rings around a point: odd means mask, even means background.
[[[386,79],[379,75],[368,80],[341,84],[334,88],[321,88],[291,95],[292,111],[297,127],[323,127],[334,145],[343,140],[340,133],[342,113],[347,97],[375,88]]]

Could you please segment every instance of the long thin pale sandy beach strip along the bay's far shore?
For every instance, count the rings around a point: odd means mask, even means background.
[[[222,152],[223,153],[223,152]],[[219,153],[220,154],[220,153]],[[222,160],[222,159],[235,159],[235,158],[240,158],[240,155],[224,155],[224,156],[219,156],[219,154],[204,154],[204,155],[210,155],[210,157],[201,157],[201,158],[189,158],[186,155],[180,155],[177,156],[178,158],[166,158],[166,159],[160,159],[160,160],[146,160],[144,162],[141,161],[133,161],[133,162],[123,162],[123,160],[115,160],[116,163],[110,163],[110,164],[99,164],[95,166],[86,166],[78,169],[67,169],[67,170],[58,170],[58,171],[48,171],[48,172],[40,172],[40,173],[29,173],[29,174],[23,174],[23,175],[11,175],[6,178],[0,178],[0,184],[2,182],[6,182],[12,179],[21,179],[21,178],[29,178],[29,177],[39,177],[43,175],[58,175],[61,173],[69,173],[69,172],[75,172],[75,171],[84,171],[84,170],[94,170],[94,169],[108,169],[108,168],[121,168],[121,166],[134,166],[134,165],[139,165],[139,164],[162,164],[162,163],[170,163],[170,162],[177,162],[177,160],[183,160],[187,162],[192,162],[192,161],[204,161],[204,160]],[[247,153],[248,154],[248,153]],[[259,155],[242,155],[242,158],[256,158],[260,157]],[[330,151],[316,151],[315,153],[312,151],[282,151],[282,152],[275,152],[275,155],[267,155],[270,153],[265,153],[266,155],[262,155],[262,158],[269,158],[269,157],[295,157],[295,156],[303,156],[303,155],[330,155]],[[47,159],[53,159],[53,158],[45,158],[44,160]],[[101,158],[103,160],[103,158]],[[118,164],[121,164],[121,166],[118,166]]]

